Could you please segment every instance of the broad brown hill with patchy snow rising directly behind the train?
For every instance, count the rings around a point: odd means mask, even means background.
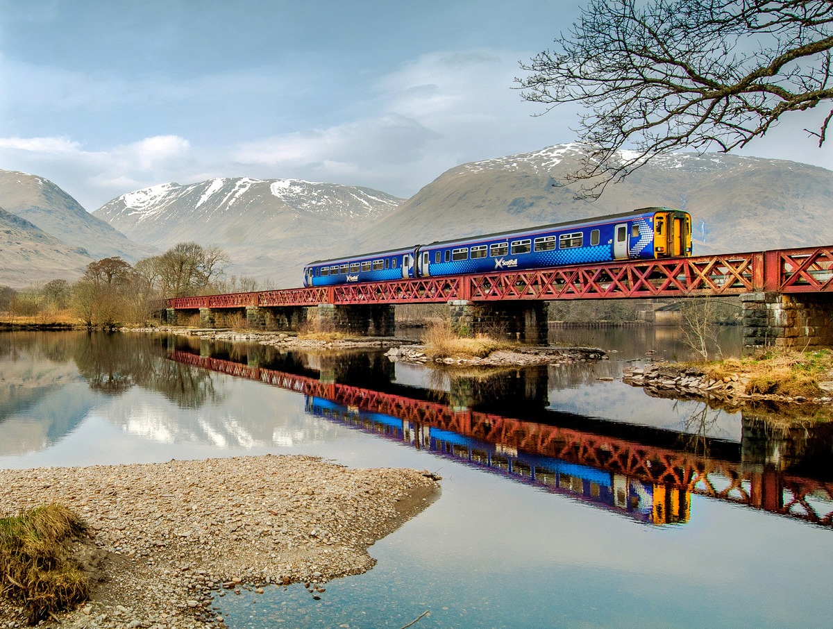
[[[804,247],[833,242],[833,172],[806,164],[722,153],[659,157],[611,184],[596,202],[559,181],[577,168],[580,147],[471,162],[451,168],[349,247],[375,251],[515,227],[679,207],[691,212],[695,254]]]

